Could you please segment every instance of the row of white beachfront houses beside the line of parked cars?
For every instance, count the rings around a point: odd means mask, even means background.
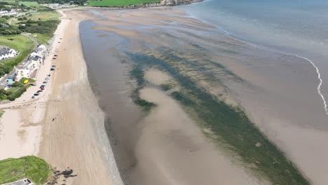
[[[40,45],[38,48],[32,51],[26,62],[20,64],[15,68],[15,81],[20,81],[21,78],[33,78],[32,74],[39,66],[43,64],[44,57],[46,55],[46,46]]]

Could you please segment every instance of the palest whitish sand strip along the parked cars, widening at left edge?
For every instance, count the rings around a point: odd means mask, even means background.
[[[60,35],[64,32],[67,22],[61,22],[55,32]],[[32,95],[39,90],[44,78],[50,74],[50,67],[53,64],[52,56],[56,48],[60,46],[59,36],[48,48],[44,65],[39,67],[36,73],[36,86],[32,86],[18,99],[13,102],[1,102],[0,109],[4,110],[4,115],[0,122],[0,159],[18,158],[27,155],[37,155],[41,141],[41,130],[46,103],[50,96],[50,83],[46,85],[46,90],[32,100]]]

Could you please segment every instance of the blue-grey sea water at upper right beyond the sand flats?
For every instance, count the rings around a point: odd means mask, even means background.
[[[179,8],[235,39],[310,60],[320,71],[327,99],[328,1],[205,0]]]

